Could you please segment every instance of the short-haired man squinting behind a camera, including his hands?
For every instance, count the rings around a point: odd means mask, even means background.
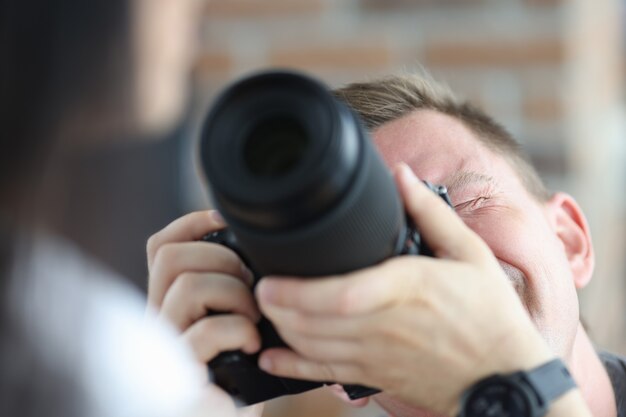
[[[478,376],[547,359],[539,345],[567,363],[593,415],[624,416],[616,394],[626,365],[605,356],[611,381],[579,321],[576,289],[591,279],[594,255],[576,202],[548,193],[502,127],[427,77],[390,77],[336,94],[365,121],[388,166],[410,167],[398,168],[398,186],[437,259],[395,258],[320,280],[264,278],[255,299],[234,253],[185,242],[223,227],[217,213],[180,219],[148,244],[149,298],[198,358],[257,351],[258,302],[294,348],[263,352],[261,367],[383,388],[375,399],[394,417],[432,415],[425,409],[453,415]],[[410,171],[447,186],[458,217],[420,194]],[[458,218],[475,234],[456,225]],[[502,271],[512,285],[499,284]],[[507,298],[505,287],[521,303]],[[536,330],[522,324],[521,306]],[[207,308],[234,314],[205,318]],[[536,334],[544,342],[536,343]],[[507,362],[516,357],[528,362]]]

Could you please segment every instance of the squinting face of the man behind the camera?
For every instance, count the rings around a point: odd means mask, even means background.
[[[419,178],[448,187],[457,214],[489,245],[540,333],[569,358],[578,299],[552,205],[532,197],[503,157],[450,116],[417,111],[376,129],[373,140],[389,167],[405,162]]]

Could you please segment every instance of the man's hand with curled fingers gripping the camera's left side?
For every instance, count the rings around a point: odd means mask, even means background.
[[[223,351],[251,354],[261,346],[252,273],[232,250],[199,241],[224,227],[214,210],[190,213],[147,244],[148,303],[175,326],[201,363]]]

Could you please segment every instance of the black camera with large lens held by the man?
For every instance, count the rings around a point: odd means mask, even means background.
[[[316,80],[275,71],[223,92],[204,122],[200,160],[228,229],[205,240],[265,275],[341,274],[403,254],[431,255],[359,118]],[[428,184],[450,204],[444,187]],[[261,350],[286,346],[261,319]],[[223,352],[214,381],[246,404],[317,388],[279,378],[258,355]],[[377,392],[345,385],[352,399]]]

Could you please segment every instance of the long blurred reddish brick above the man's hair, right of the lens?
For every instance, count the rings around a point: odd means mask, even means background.
[[[435,41],[427,44],[424,49],[427,66],[558,65],[565,58],[566,48],[559,39]]]

